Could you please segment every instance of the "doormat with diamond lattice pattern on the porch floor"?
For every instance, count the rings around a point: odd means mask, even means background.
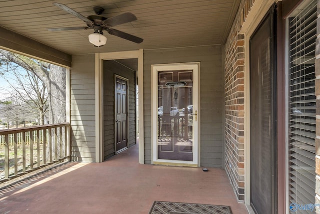
[[[229,206],[154,201],[149,214],[232,214]]]

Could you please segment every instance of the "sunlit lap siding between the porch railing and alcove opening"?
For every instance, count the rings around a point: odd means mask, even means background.
[[[94,54],[72,56],[70,69],[71,156],[95,162]]]

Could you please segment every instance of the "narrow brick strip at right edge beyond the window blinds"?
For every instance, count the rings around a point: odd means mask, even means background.
[[[315,95],[316,95],[316,138],[315,138],[315,203],[320,204],[320,0],[317,1],[317,25],[315,46]],[[320,206],[315,206],[320,213]]]

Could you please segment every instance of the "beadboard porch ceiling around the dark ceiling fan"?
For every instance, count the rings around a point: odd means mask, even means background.
[[[111,18],[125,12],[137,21],[114,29],[143,38],[140,44],[109,35],[103,47],[93,47],[93,30],[50,32],[47,28],[86,26],[52,3],[61,3],[87,17],[94,6]],[[240,0],[7,0],[0,1],[0,26],[65,53],[85,54],[223,44]]]

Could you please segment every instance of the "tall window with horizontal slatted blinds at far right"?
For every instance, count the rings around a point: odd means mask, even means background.
[[[307,4],[306,4],[307,3]],[[287,19],[288,202],[314,203],[316,0],[304,1]],[[304,213],[303,210],[289,210]]]

